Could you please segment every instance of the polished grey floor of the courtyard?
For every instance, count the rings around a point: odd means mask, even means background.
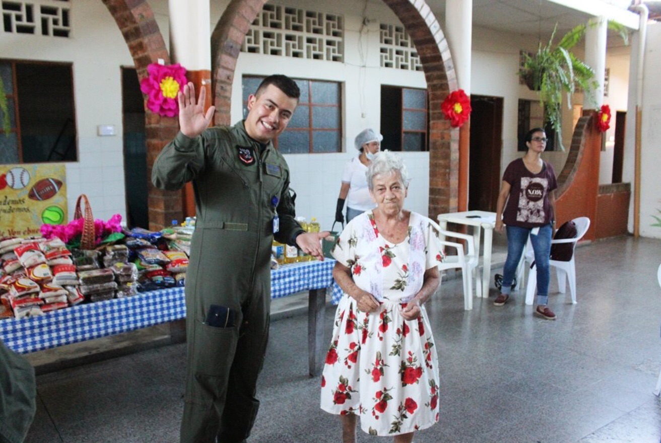
[[[578,304],[557,293],[552,275],[555,322],[533,317],[522,292],[493,306],[494,288],[464,311],[460,281],[442,283],[427,306],[441,365],[440,423],[415,443],[660,442],[652,390],[661,369],[661,241],[593,242],[577,248],[576,262]],[[306,333],[300,311],[272,323],[249,442],[341,441],[337,418],[319,409],[319,378],[307,376]],[[26,442],[175,443],[184,363],[178,344],[42,374]],[[391,440],[359,431],[358,442],[376,441]]]

